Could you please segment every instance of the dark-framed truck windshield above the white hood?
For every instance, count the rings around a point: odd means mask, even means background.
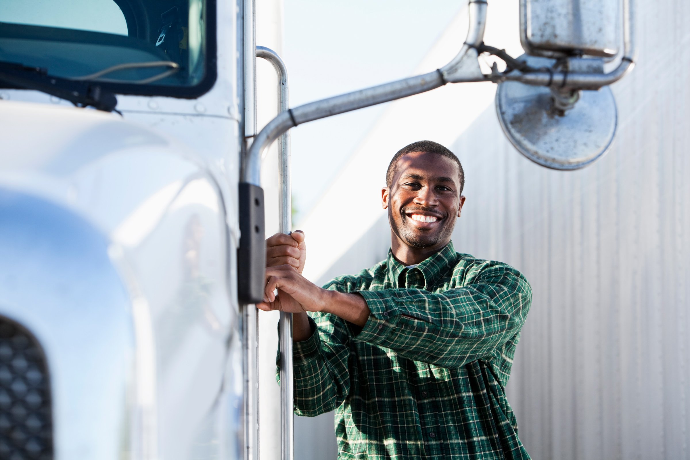
[[[0,61],[121,94],[195,96],[215,80],[213,1],[0,0]]]

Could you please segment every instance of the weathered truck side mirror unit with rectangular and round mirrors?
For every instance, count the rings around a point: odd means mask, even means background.
[[[620,0],[520,0],[526,54],[517,61],[524,72],[509,73],[499,83],[496,110],[506,136],[525,157],[574,170],[609,150],[618,111],[608,85],[633,62],[631,1],[624,0],[622,15]],[[620,66],[604,74],[604,61],[617,55]]]

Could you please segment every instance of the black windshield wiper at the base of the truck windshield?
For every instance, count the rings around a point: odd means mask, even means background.
[[[20,63],[0,61],[0,81],[25,90],[37,90],[65,99],[77,107],[93,107],[112,112],[117,98],[111,92],[88,81],[74,81],[53,77],[45,68],[28,67]],[[115,110],[117,112],[117,110]]]

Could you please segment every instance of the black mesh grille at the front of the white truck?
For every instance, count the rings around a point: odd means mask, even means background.
[[[46,359],[24,328],[0,317],[0,459],[52,459]]]

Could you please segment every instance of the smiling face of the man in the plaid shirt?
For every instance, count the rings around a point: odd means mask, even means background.
[[[397,161],[391,188],[382,190],[391,230],[411,248],[440,249],[451,241],[460,196],[460,170],[455,161],[431,152],[408,153]]]

